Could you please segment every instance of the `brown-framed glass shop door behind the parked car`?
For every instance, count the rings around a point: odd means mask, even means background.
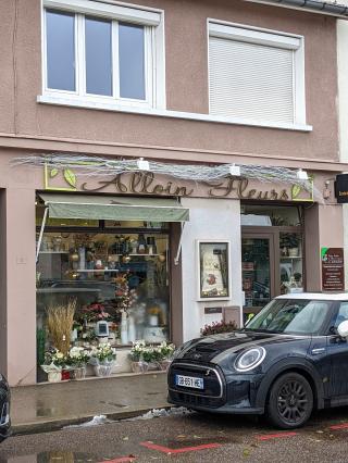
[[[274,296],[274,242],[272,235],[244,235],[241,239],[245,322],[258,313]]]

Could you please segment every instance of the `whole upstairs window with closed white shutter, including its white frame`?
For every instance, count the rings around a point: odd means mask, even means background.
[[[210,113],[306,124],[303,38],[209,23]]]

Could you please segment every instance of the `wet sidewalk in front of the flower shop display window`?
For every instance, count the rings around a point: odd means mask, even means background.
[[[11,393],[14,434],[59,429],[96,415],[121,420],[170,406],[165,372],[45,383],[15,387]]]

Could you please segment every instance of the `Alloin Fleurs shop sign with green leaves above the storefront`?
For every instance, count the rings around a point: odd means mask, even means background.
[[[182,198],[210,197],[270,201],[313,201],[312,190],[306,191],[299,185],[276,188],[247,178],[225,178],[213,183],[194,183],[169,179],[151,172],[134,172],[114,177],[86,177],[78,174],[80,166],[72,168],[45,167],[45,189],[50,191],[114,192],[121,195],[174,196]],[[61,171],[61,172],[60,172]],[[271,186],[270,186],[271,185]]]

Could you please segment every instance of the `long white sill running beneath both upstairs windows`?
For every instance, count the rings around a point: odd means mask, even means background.
[[[159,117],[172,117],[188,121],[210,122],[228,125],[244,125],[253,127],[278,128],[284,130],[312,132],[313,127],[307,124],[271,123],[239,117],[224,117],[212,114],[188,113],[182,111],[170,111],[149,107],[121,105],[109,101],[87,101],[83,98],[69,97],[62,95],[42,95],[37,97],[38,103],[58,104],[62,107],[84,108],[101,111],[114,111],[129,114],[151,115]]]

